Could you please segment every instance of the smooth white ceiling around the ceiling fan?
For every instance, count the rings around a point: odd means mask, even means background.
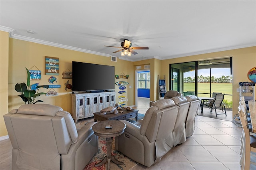
[[[138,61],[256,45],[256,1],[0,1],[10,37]],[[26,31],[34,31],[29,34]],[[124,40],[136,55],[121,57]]]

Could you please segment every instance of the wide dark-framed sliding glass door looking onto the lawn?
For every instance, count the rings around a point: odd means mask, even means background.
[[[213,92],[225,93],[224,103],[232,109],[231,64],[232,57],[170,64],[169,89],[184,96],[192,93],[198,97],[212,97]]]

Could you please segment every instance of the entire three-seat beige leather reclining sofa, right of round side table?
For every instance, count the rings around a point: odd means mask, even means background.
[[[140,123],[135,125],[122,120],[126,129],[115,137],[116,150],[150,167],[174,146],[185,142],[187,131],[190,132],[188,135],[193,134],[195,127],[191,115],[196,116],[199,105],[200,99],[196,96],[155,101]],[[192,129],[187,130],[189,128]]]

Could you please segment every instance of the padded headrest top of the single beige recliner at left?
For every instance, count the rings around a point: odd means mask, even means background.
[[[49,104],[30,104],[21,105],[17,114],[55,116],[58,111],[63,111],[63,109]]]

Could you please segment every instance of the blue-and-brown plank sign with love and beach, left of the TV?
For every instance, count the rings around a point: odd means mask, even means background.
[[[59,75],[59,58],[45,56],[45,74]]]

